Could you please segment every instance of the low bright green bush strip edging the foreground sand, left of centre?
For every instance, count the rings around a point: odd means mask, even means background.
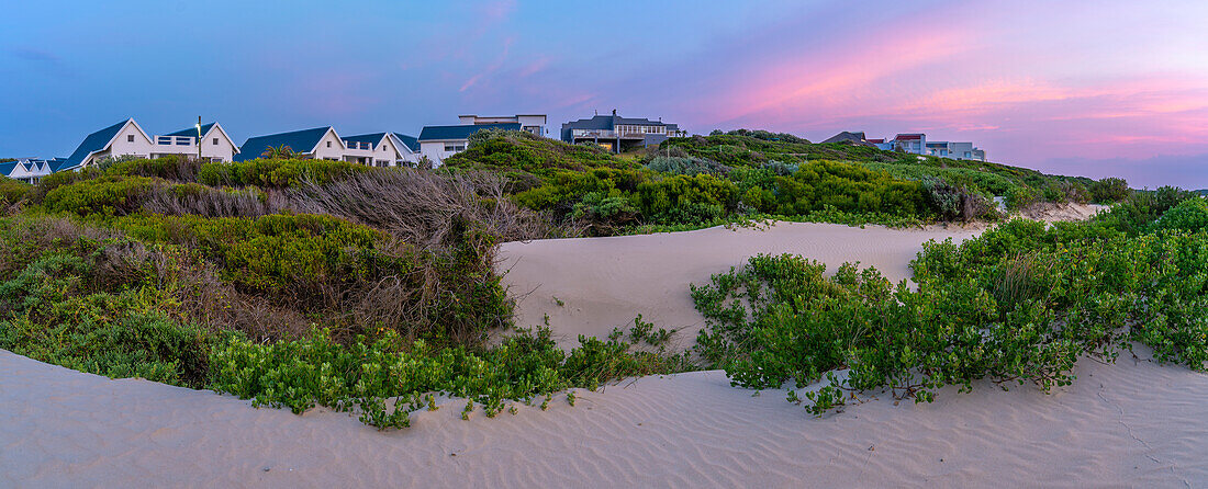
[[[548,330],[521,331],[483,351],[407,344],[393,332],[360,337],[347,347],[324,331],[274,344],[230,334],[211,350],[210,386],[295,413],[314,406],[360,408],[367,424],[405,427],[411,412],[435,408],[432,395],[469,398],[494,417],[505,401],[533,404],[556,391],[596,389],[608,380],[683,371],[686,365],[683,356],[631,353],[631,345],[617,339],[580,342],[568,354]]]

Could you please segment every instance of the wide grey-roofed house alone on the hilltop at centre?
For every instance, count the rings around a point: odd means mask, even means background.
[[[570,144],[592,142],[618,153],[639,146],[657,145],[681,135],[675,124],[646,118],[597,115],[562,124],[562,140]]]

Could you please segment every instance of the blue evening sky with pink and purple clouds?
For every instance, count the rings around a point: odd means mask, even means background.
[[[1208,188],[1208,1],[17,1],[0,157],[134,117],[236,142],[614,109],[692,133],[927,133],[1045,173]]]

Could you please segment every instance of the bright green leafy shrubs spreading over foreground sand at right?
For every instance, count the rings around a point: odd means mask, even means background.
[[[873,269],[756,256],[693,287],[708,318],[697,351],[743,386],[791,384],[815,413],[888,388],[930,401],[975,380],[1043,389],[1074,363],[1139,342],[1156,359],[1208,362],[1208,200],[1163,188],[1087,223],[1015,220],[978,238],[930,243],[917,289]],[[840,374],[842,372],[842,374]]]

